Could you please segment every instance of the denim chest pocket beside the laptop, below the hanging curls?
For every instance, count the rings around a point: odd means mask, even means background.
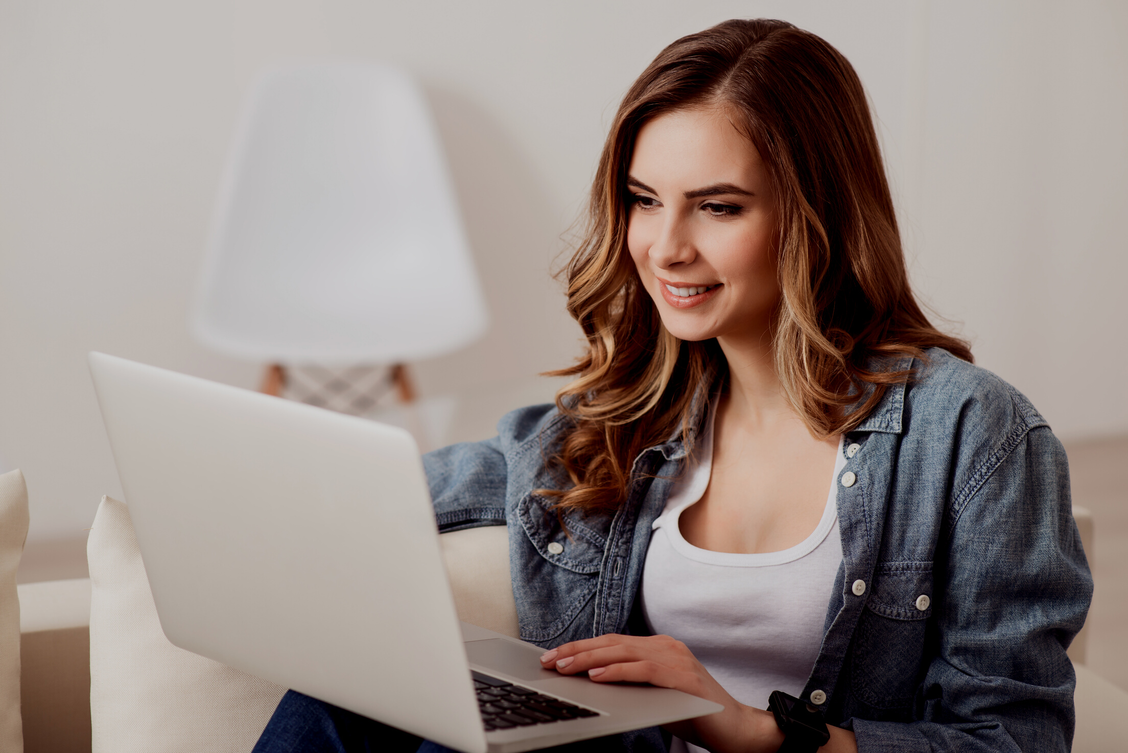
[[[567,639],[591,637],[581,618],[593,609],[610,520],[557,513],[552,499],[536,494],[521,499],[517,517],[532,548],[513,584],[521,638],[547,645],[565,631]]]

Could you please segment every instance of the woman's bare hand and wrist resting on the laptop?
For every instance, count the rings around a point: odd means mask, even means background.
[[[715,753],[775,753],[783,733],[769,711],[744,706],[728,693],[680,640],[669,636],[619,636],[564,644],[540,657],[546,670],[587,672],[593,682],[645,682],[715,701],[723,711],[666,725],[672,734]],[[830,727],[820,753],[857,751],[854,733]]]

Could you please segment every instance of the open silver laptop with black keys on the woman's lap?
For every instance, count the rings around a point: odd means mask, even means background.
[[[100,353],[90,371],[177,646],[467,753],[721,710],[459,623],[407,432]]]

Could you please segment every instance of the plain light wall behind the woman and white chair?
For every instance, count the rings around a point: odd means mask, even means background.
[[[858,70],[943,326],[1059,435],[1128,432],[1126,3],[0,0],[0,470],[27,477],[29,538],[79,535],[121,491],[87,351],[257,383],[186,315],[264,67],[385,60],[423,82],[493,325],[415,373],[424,395],[501,405],[550,395],[534,375],[578,353],[548,271],[618,98],[678,36],[756,16]]]

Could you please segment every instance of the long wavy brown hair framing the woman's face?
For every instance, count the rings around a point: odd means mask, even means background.
[[[572,419],[552,461],[572,480],[562,510],[614,510],[634,458],[677,432],[693,398],[726,373],[716,340],[662,326],[626,247],[627,168],[640,129],[659,115],[724,107],[765,162],[778,207],[775,366],[816,437],[848,432],[911,376],[891,357],[963,340],[929,324],[909,287],[892,197],[865,91],[820,37],[777,20],[730,20],[663,50],[623,99],[599,160],[588,227],[564,269],[567,309],[588,340],[557,395]],[[875,366],[875,364],[878,364]],[[864,396],[864,397],[863,397]]]

